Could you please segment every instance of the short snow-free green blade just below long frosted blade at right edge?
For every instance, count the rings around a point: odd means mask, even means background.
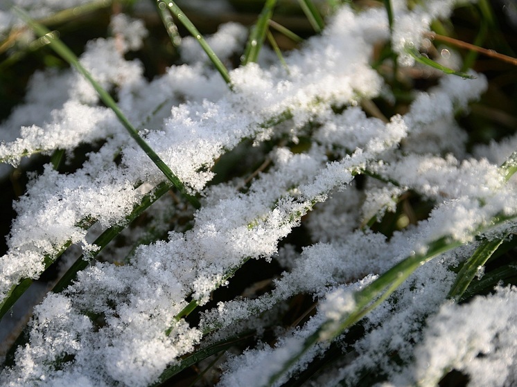
[[[508,234],[505,235],[507,237]],[[465,293],[468,285],[471,284],[472,280],[477,274],[477,271],[480,267],[483,267],[484,264],[489,260],[492,254],[498,249],[498,247],[505,240],[505,237],[496,240],[484,240],[481,246],[479,246],[471,258],[468,258],[464,263],[462,269],[456,276],[456,280],[453,286],[450,288],[448,298],[459,301]]]

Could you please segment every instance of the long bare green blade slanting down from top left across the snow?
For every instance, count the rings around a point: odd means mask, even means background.
[[[81,73],[94,87],[94,89],[97,91],[98,95],[100,96],[100,99],[103,100],[103,102],[112,109],[116,115],[117,118],[119,118],[119,121],[122,123],[122,125],[125,127],[125,129],[128,130],[130,136],[134,139],[134,141],[137,141],[138,145],[141,147],[141,149],[146,152],[148,157],[152,160],[153,163],[163,172],[163,174],[167,177],[167,179],[176,186],[176,188],[182,192],[182,194],[188,199],[191,204],[195,208],[200,208],[200,203],[198,199],[195,197],[189,195],[188,192],[186,192],[186,188],[183,185],[182,181],[180,181],[176,175],[173,173],[170,168],[168,168],[168,165],[164,163],[160,159],[160,157],[156,154],[154,150],[152,150],[152,147],[146,143],[146,141],[138,134],[137,129],[133,127],[133,125],[129,122],[128,118],[124,116],[121,109],[118,105],[116,105],[116,102],[113,100],[113,98],[109,95],[109,93],[103,89],[103,87],[94,80],[94,78],[91,76],[91,74],[85,69],[82,64],[80,64],[78,58],[76,55],[74,55],[70,49],[65,46],[60,39],[55,37],[53,33],[51,33],[49,30],[47,30],[44,26],[37,23],[33,19],[31,19],[24,10],[21,10],[18,7],[12,7],[12,10],[15,11],[17,15],[21,19],[23,19],[29,26],[32,28],[35,33],[40,35],[43,39],[49,40],[49,46],[61,57],[66,60],[71,66],[75,67],[79,73]]]

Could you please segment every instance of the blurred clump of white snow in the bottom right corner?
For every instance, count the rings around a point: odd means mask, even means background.
[[[394,384],[435,386],[448,372],[467,375],[469,386],[511,386],[516,380],[515,287],[498,287],[466,305],[447,304],[429,318],[412,367]],[[471,316],[475,316],[472,318]]]

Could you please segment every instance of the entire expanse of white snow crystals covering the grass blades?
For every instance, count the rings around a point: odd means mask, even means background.
[[[405,61],[406,45],[425,43],[432,19],[448,17],[454,3],[427,1],[409,10],[393,1],[392,44],[403,64],[412,65]],[[200,194],[202,208],[186,224],[168,228],[157,222],[176,219],[182,210],[161,207],[173,206],[170,199],[156,204],[146,213],[152,230],[135,226],[123,234],[130,244],[149,237],[154,243],[112,247],[107,262],[92,264],[61,294],[47,296],[35,309],[28,342],[1,372],[3,385],[147,386],[198,348],[236,330],[260,334],[272,326],[276,343],[231,357],[221,386],[243,380],[262,386],[273,379],[280,385],[325,356],[331,339],[350,356],[329,366],[318,386],[355,384],[372,372],[378,376],[374,382],[432,385],[450,368],[470,375],[473,385],[515,382],[509,360],[515,316],[511,308],[502,311],[505,300],[514,300],[514,289],[498,289],[468,305],[444,301],[455,278],[450,267],[473,253],[479,237],[511,231],[513,223],[496,223],[517,212],[514,183],[505,183],[498,168],[499,152],[511,152],[515,140],[477,147],[479,157],[472,156],[455,118],[487,88],[481,74],[475,80],[441,75],[437,86],[414,96],[405,114],[374,118],[364,106],[371,98],[389,98],[387,84],[371,66],[374,45],[389,39],[383,8],[354,12],[342,6],[321,35],[286,55],[288,71],[281,64],[239,67],[230,71],[231,89],[191,38],[182,47],[188,64],[148,81],[141,64],[124,56],[146,37],[141,21],[118,15],[110,29],[111,37],[87,44],[81,62],[116,95],[187,190]],[[245,35],[243,26],[226,24],[207,39],[227,60],[240,52]],[[42,96],[44,89],[52,98]],[[15,165],[35,152],[100,145],[73,173],[47,165],[31,177],[15,204],[8,253],[0,258],[2,298],[21,279],[38,278],[44,259],[54,260],[67,244],[96,251],[88,226],[125,225],[143,195],[165,181],[73,71],[37,73],[26,101],[2,128],[1,158]],[[248,158],[242,163],[266,160],[266,167],[252,179],[239,176],[207,187],[218,161],[239,154],[247,143],[254,147],[240,156]],[[376,179],[354,183],[360,174]],[[432,203],[430,213],[392,235],[370,229],[397,211],[405,192]],[[178,197],[174,205],[186,206]],[[191,215],[189,208],[183,211]],[[300,225],[308,233],[304,248],[279,249]],[[412,273],[360,321],[362,336],[339,331],[358,305],[356,291],[405,258],[426,254],[437,240],[464,246]],[[177,321],[190,300],[206,304],[249,259],[274,259],[285,271],[261,296],[207,309],[199,325]],[[274,314],[299,294],[319,302],[313,316],[291,330],[276,326]],[[478,309],[497,319],[464,327]],[[477,335],[483,327],[485,335]],[[315,334],[317,343],[306,348]],[[450,336],[461,345],[448,348]],[[477,359],[479,353],[484,356]],[[489,375],[495,363],[498,375]]]

